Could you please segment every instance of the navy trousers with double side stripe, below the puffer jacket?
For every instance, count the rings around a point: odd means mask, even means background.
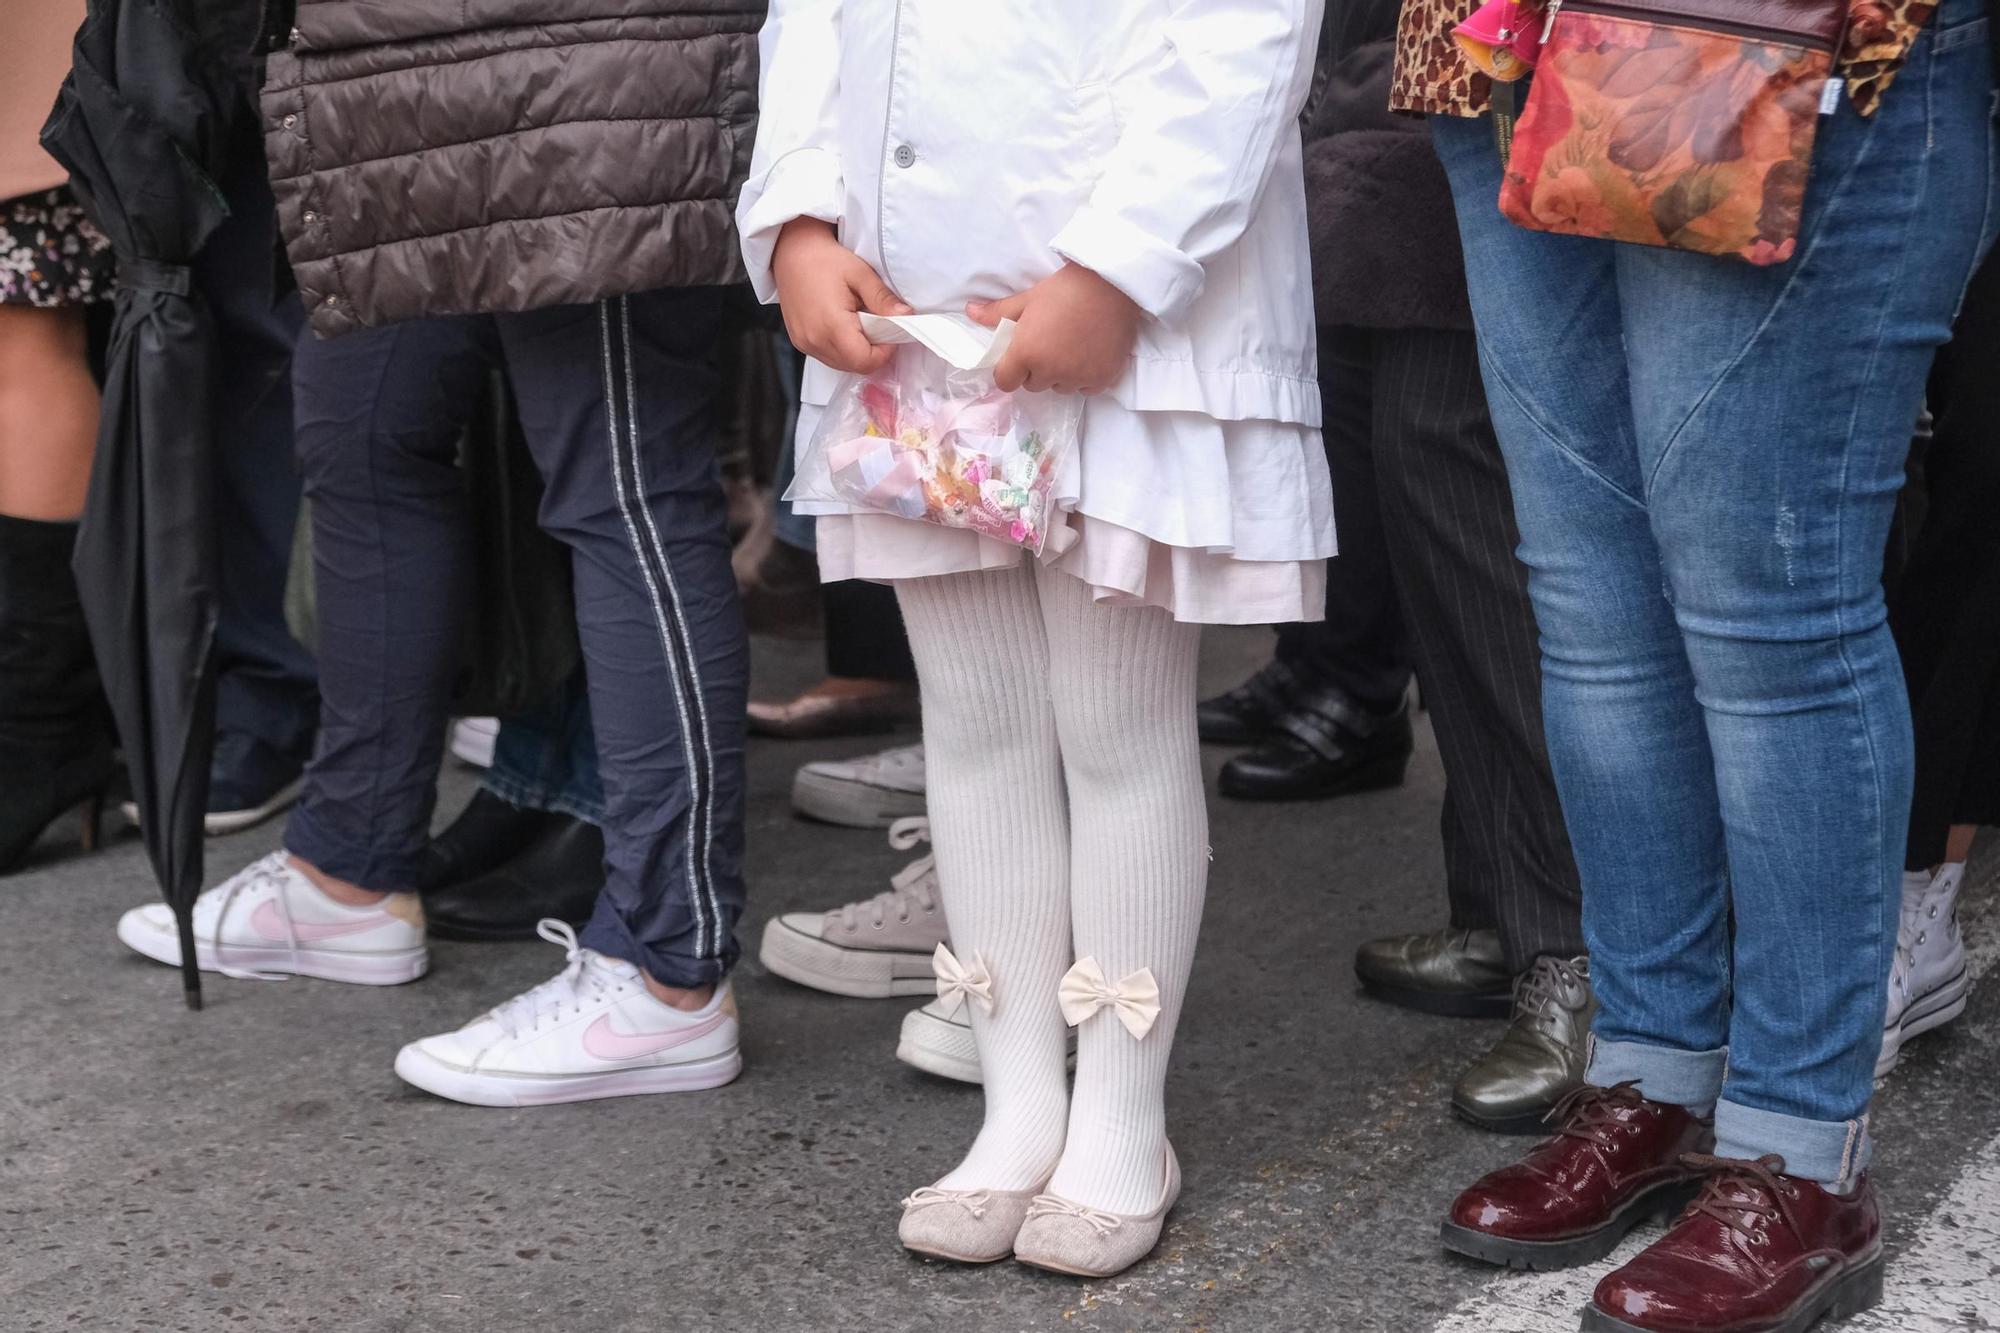
[[[604,785],[584,943],[668,985],[730,969],[750,650],[712,440],[720,312],[718,290],[650,292],[300,346],[322,711],[292,853],[368,889],[414,881],[474,572],[456,446],[500,360],[572,556]]]

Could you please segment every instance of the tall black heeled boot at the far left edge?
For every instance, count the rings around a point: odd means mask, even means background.
[[[94,849],[116,777],[74,548],[74,522],[0,514],[0,875],[78,805]]]

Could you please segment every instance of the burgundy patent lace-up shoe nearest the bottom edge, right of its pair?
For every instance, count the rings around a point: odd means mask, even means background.
[[[1882,1299],[1882,1213],[1784,1175],[1782,1157],[1690,1157],[1708,1179],[1672,1231],[1602,1283],[1596,1333],[1806,1333]]]

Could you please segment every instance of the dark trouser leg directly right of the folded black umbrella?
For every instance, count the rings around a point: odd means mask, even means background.
[[[298,528],[292,348],[306,314],[278,276],[278,212],[264,146],[244,140],[224,178],[228,220],[194,272],[216,322],[216,731],[228,759],[252,743],[304,757],[318,719],[312,654],[284,620]]]

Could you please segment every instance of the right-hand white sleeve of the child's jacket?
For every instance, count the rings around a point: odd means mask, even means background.
[[[1172,0],[1162,54],[1112,84],[1118,146],[1054,250],[1180,322],[1298,134],[1320,16],[1322,0]]]

